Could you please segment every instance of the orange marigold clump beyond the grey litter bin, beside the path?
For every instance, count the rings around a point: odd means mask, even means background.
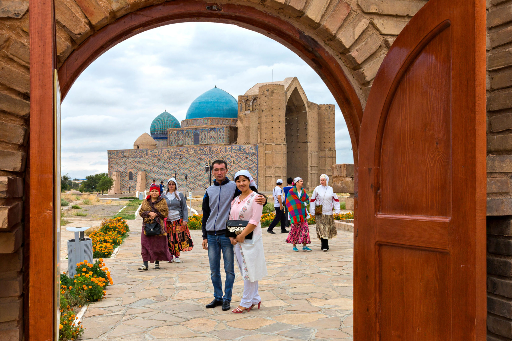
[[[100,229],[92,232],[89,237],[93,241],[93,257],[109,258],[114,248],[119,246],[123,237],[130,231],[126,220],[121,217],[105,219]]]

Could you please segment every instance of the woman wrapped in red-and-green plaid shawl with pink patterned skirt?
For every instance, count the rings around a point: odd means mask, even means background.
[[[290,216],[290,233],[286,238],[287,243],[293,244],[293,251],[298,251],[296,244],[303,244],[302,251],[311,251],[307,244],[311,244],[309,239],[309,226],[306,206],[309,204],[309,197],[305,190],[302,189],[304,181],[300,177],[293,179],[294,187],[288,191],[286,196],[286,208]]]

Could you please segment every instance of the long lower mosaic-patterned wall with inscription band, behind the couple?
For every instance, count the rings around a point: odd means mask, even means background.
[[[228,163],[228,177],[238,170],[248,170],[258,183],[258,145],[192,146],[153,149],[109,150],[109,176],[120,175],[121,192],[135,191],[136,174],[145,171],[147,185],[151,180],[167,181],[177,173],[178,189],[204,190],[209,186],[209,172],[204,168],[208,162],[222,159]],[[133,180],[128,180],[128,171],[133,170]],[[129,188],[130,186],[130,188]],[[148,189],[148,188],[147,188]]]

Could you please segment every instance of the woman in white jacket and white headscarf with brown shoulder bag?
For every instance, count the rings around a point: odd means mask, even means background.
[[[336,237],[338,234],[334,225],[333,213],[342,213],[338,196],[328,184],[329,176],[326,174],[320,175],[320,186],[314,189],[309,204],[309,212],[315,217],[316,221],[316,236],[322,242],[320,247],[322,251],[329,250],[329,239]]]

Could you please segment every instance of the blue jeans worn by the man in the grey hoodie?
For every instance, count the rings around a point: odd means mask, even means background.
[[[224,258],[224,271],[226,272],[224,297],[222,297],[221,251]],[[208,235],[208,260],[210,262],[210,278],[211,283],[214,285],[215,299],[231,302],[234,283],[234,252],[233,244],[231,244],[231,241],[225,234],[217,236]]]

